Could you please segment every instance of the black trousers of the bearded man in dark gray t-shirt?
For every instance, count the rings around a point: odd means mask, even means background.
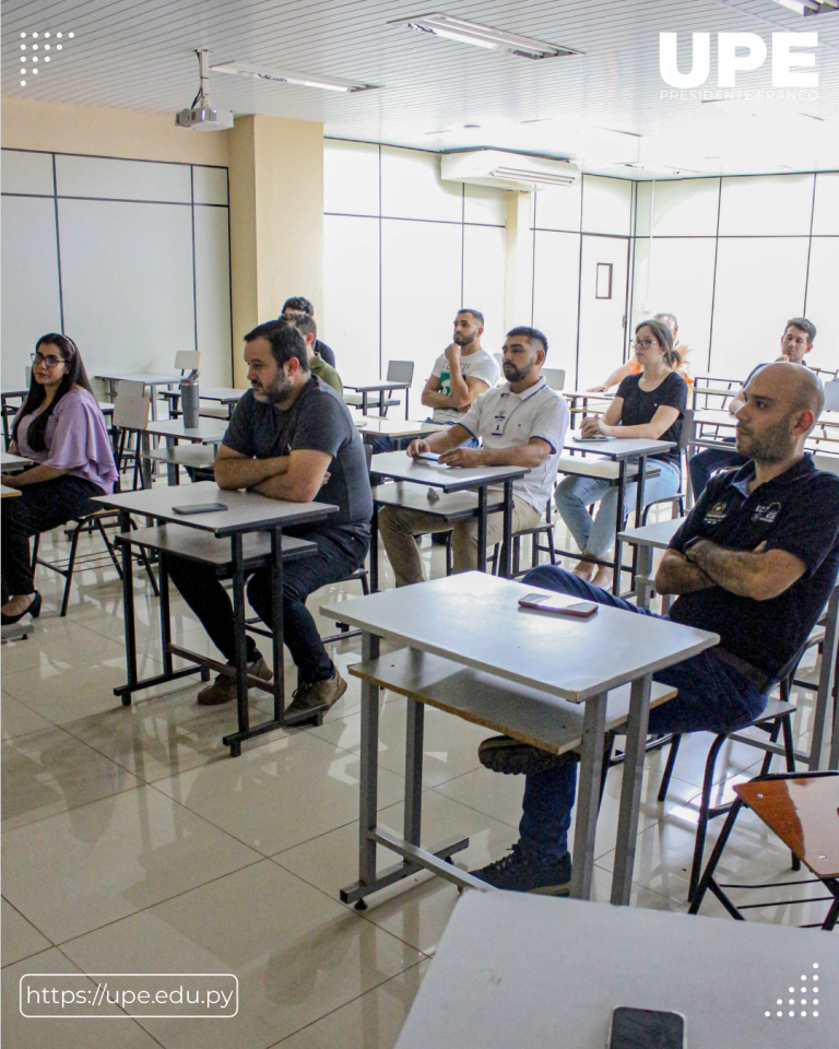
[[[316,543],[318,552],[283,565],[283,637],[292,653],[302,681],[326,681],[334,672],[315,620],[306,608],[306,598],[330,582],[339,582],[364,563],[369,537],[351,534],[340,529],[311,532],[305,537]],[[184,600],[201,620],[215,647],[228,663],[235,662],[236,643],[233,626],[233,601],[215,571],[180,557],[169,558],[169,578]],[[247,587],[248,601],[262,622],[272,628],[271,570],[257,568]],[[248,635],[248,662],[257,658],[257,646]]]

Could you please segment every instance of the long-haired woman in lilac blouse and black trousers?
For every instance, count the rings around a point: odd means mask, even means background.
[[[2,503],[3,625],[40,614],[29,537],[96,509],[91,496],[114,491],[117,468],[105,417],[79,347],[67,335],[42,335],[32,355],[29,392],[12,424],[10,451],[32,459],[2,482],[21,496]]]

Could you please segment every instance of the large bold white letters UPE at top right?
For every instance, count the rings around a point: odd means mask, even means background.
[[[659,33],[659,69],[671,87],[699,87],[711,70],[711,34],[693,34],[689,73],[678,69],[677,33]],[[793,48],[818,47],[818,33],[772,33],[772,87],[818,87],[818,73],[793,72],[816,64],[816,56]],[[717,84],[736,87],[737,72],[758,69],[766,61],[766,43],[756,33],[717,34]]]

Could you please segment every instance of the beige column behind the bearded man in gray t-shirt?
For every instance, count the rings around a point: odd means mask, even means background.
[[[323,126],[260,114],[231,132],[234,385],[241,337],[305,295],[323,317]]]

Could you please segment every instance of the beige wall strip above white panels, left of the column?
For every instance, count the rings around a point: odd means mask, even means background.
[[[170,113],[66,106],[5,95],[2,98],[2,144],[7,149],[226,167],[231,134],[185,131],[175,127],[175,114]]]

